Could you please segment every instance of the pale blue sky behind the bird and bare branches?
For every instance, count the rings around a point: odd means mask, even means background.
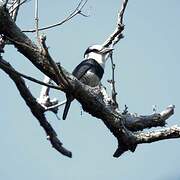
[[[53,3],[54,4],[53,4]],[[63,19],[77,4],[76,0],[40,1],[40,24]],[[65,25],[44,32],[51,55],[70,72],[82,58],[85,49],[103,42],[116,24],[120,0],[89,0],[84,12],[89,18],[75,17]],[[17,24],[32,28],[33,1],[23,6]],[[116,83],[120,107],[130,112],[151,114],[175,104],[175,115],[169,125],[180,125],[180,1],[129,0],[125,14],[125,38],[116,46]],[[31,35],[32,36],[32,35]],[[32,36],[33,37],[33,36]],[[18,70],[41,79],[43,76],[19,53],[6,48],[4,58]],[[104,82],[110,77],[106,66]],[[116,139],[98,119],[83,112],[79,103],[71,106],[68,119],[47,117],[64,146],[73,152],[69,159],[56,152],[30,113],[7,75],[0,71],[0,179],[2,180],[179,180],[180,140],[166,140],[138,146],[119,159],[112,157]],[[28,82],[35,95],[40,87]],[[64,100],[62,92],[53,97]],[[60,108],[59,116],[62,116]]]

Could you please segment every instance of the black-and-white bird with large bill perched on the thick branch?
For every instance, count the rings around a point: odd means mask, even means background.
[[[105,63],[112,51],[113,48],[104,47],[103,45],[96,44],[88,47],[84,53],[84,60],[75,67],[72,75],[88,86],[95,87],[99,85],[104,74]],[[63,120],[67,117],[74,97],[70,93],[66,93],[66,99]]]

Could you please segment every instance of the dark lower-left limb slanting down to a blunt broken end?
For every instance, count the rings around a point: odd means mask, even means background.
[[[25,81],[16,73],[14,73],[14,69],[11,67],[9,63],[3,60],[0,57],[0,68],[5,71],[9,77],[14,81],[16,84],[17,89],[19,90],[22,98],[26,102],[27,106],[30,108],[32,114],[37,118],[40,125],[45,130],[48,140],[50,140],[52,146],[62,153],[65,156],[72,157],[70,151],[65,149],[61,143],[61,141],[57,138],[57,134],[52,128],[52,126],[48,123],[45,115],[44,115],[44,108],[36,101],[36,98],[33,97],[29,89],[27,88]],[[12,70],[10,70],[12,69]]]

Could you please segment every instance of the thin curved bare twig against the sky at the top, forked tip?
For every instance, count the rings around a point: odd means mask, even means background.
[[[47,30],[47,29],[52,29],[52,28],[57,27],[57,26],[61,26],[62,24],[64,24],[67,21],[71,20],[72,18],[74,18],[78,14],[80,14],[80,15],[82,15],[84,17],[88,17],[87,15],[82,13],[82,9],[84,8],[84,6],[88,2],[88,0],[85,0],[84,2],[83,1],[84,0],[81,0],[79,2],[79,4],[77,5],[77,7],[75,8],[75,10],[69,16],[67,16],[64,20],[62,20],[62,21],[60,21],[58,23],[49,25],[49,26],[45,26],[45,27],[39,28],[38,30],[39,31],[43,31],[43,30]],[[36,32],[36,29],[23,30],[23,32],[25,32],[25,33],[33,33],[33,32]]]

